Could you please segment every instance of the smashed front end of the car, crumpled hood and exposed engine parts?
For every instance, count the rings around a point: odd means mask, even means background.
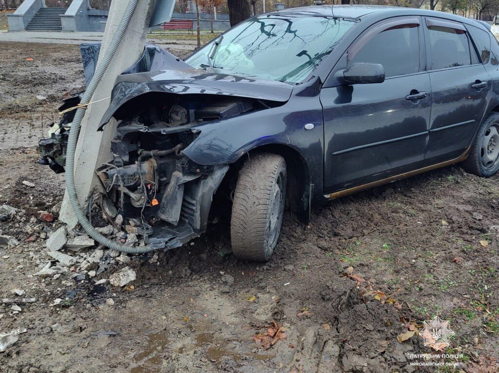
[[[168,69],[149,71],[155,64]],[[99,126],[102,130],[110,121],[116,123],[112,159],[96,175],[107,200],[124,218],[121,241],[126,242],[130,222],[147,245],[158,249],[180,247],[205,232],[229,162],[206,164],[188,155],[195,152],[199,158],[216,149],[223,154],[231,146],[216,140],[210,141],[210,149],[196,146],[193,151],[190,146],[205,124],[278,107],[291,91],[285,83],[269,86],[264,80],[193,69],[161,48],[146,46],[143,57],[117,78]],[[65,104],[70,105],[77,105],[77,99]],[[63,170],[69,129],[62,122],[51,138],[39,143],[42,159],[52,169],[54,163],[60,167],[56,172]]]

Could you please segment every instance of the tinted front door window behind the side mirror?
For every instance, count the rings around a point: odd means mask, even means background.
[[[395,26],[375,35],[351,59],[353,62],[379,63],[385,76],[419,72],[419,33],[414,24]]]

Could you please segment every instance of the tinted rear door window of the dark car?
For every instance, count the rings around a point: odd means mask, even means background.
[[[471,65],[470,44],[466,31],[429,26],[432,70]]]

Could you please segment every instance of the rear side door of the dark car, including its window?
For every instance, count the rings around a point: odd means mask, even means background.
[[[490,75],[460,22],[426,17],[424,22],[432,114],[425,163],[461,156],[487,107]]]

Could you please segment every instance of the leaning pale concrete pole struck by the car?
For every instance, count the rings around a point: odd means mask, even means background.
[[[92,102],[110,97],[116,77],[139,59],[144,50],[153,3],[154,0],[139,1],[125,35],[123,36],[123,40],[93,95]],[[107,49],[111,42],[127,4],[128,1],[113,1],[111,3],[106,30],[102,40],[99,62],[102,58],[103,51]],[[114,137],[116,131],[115,121],[111,120],[104,127],[103,131],[97,131],[99,122],[108,108],[109,102],[110,100],[103,100],[89,105],[81,123],[81,131],[75,153],[74,182],[78,198],[82,205],[93,189],[101,188],[100,183],[94,174],[95,169],[103,162],[112,159],[111,139]],[[70,228],[74,228],[78,223],[71,204],[69,203],[67,191],[62,200],[59,219]]]

